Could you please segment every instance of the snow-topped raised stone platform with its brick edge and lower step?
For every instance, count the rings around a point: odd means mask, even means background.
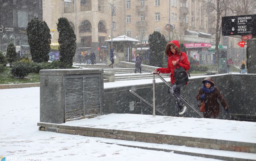
[[[41,130],[64,134],[204,148],[203,153],[197,151],[196,156],[206,155],[205,150],[214,149],[221,155],[208,157],[215,159],[256,159],[256,123],[252,122],[112,113],[63,124],[37,125]],[[195,155],[189,149],[185,151],[188,155]],[[224,152],[229,156],[223,156]]]

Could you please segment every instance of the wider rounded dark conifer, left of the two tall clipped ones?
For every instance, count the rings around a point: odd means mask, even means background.
[[[28,22],[27,28],[28,44],[34,62],[47,62],[51,44],[50,29],[45,21],[37,18]]]

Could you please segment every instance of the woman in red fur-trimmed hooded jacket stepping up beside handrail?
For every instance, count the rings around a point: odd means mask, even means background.
[[[168,56],[167,68],[157,68],[155,72],[171,73],[172,87],[170,87],[170,92],[176,101],[176,107],[178,108],[179,115],[182,115],[186,110],[186,106],[182,102],[182,99],[180,96],[180,90],[185,84],[187,84],[187,82],[184,84],[176,84],[175,78],[174,78],[174,69],[182,67],[186,71],[189,70],[190,68],[189,61],[187,59],[186,53],[180,51],[180,44],[178,40],[170,41],[165,46],[165,55]],[[180,60],[180,56],[181,56],[181,60]]]

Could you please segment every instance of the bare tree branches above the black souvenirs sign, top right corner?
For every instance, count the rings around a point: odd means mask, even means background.
[[[236,15],[250,15],[256,11],[256,0],[234,0],[230,6]]]

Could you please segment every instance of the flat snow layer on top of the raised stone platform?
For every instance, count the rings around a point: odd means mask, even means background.
[[[256,123],[245,121],[112,113],[64,125],[256,143]]]

